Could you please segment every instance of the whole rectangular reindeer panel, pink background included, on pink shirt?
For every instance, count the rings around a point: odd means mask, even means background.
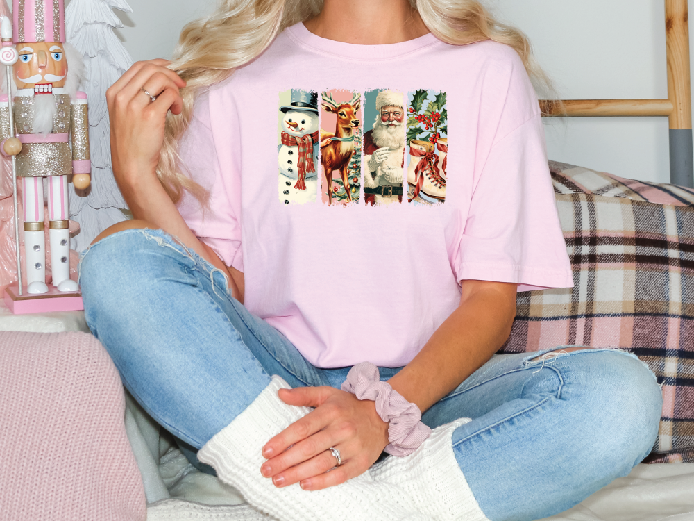
[[[362,94],[326,90],[321,108],[323,203],[356,203],[362,176]]]

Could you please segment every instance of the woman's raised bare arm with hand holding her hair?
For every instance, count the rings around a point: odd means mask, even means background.
[[[112,226],[97,239],[127,228],[162,229],[228,274],[232,294],[243,301],[243,274],[224,265],[198,240],[155,173],[167,114],[169,110],[180,114],[183,108],[179,90],[185,81],[167,69],[168,64],[166,60],[135,63],[106,92],[113,174],[135,220]],[[157,99],[151,101],[143,89]]]

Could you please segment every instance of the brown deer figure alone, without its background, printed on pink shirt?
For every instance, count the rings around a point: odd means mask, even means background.
[[[332,94],[323,92],[323,110],[337,115],[335,133],[321,129],[321,165],[325,176],[325,187],[328,188],[328,204],[332,204],[332,172],[339,170],[342,183],[347,192],[348,202],[352,201],[349,187],[349,161],[354,154],[354,131],[359,129],[359,119],[355,119],[361,96],[355,94],[349,103],[337,103]]]

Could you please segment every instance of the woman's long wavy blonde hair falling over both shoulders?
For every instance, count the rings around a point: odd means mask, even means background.
[[[443,42],[465,45],[494,40],[516,49],[539,92],[552,85],[532,56],[521,31],[498,22],[479,0],[409,0],[424,24]],[[193,115],[196,92],[228,78],[237,67],[260,55],[285,27],[321,12],[323,0],[221,0],[212,15],[191,22],[181,32],[171,68],[187,82],[181,91],[183,112],[169,113],[157,176],[171,200],[184,190],[203,206],[208,193],[181,172],[178,140]]]

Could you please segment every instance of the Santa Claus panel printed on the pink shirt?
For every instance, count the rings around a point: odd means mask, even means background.
[[[364,202],[385,206],[403,201],[405,95],[395,90],[364,94]],[[405,192],[406,193],[406,192]]]

